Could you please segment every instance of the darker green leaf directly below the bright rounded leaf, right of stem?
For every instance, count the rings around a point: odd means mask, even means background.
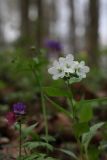
[[[83,133],[89,131],[88,123],[76,123],[73,126],[76,137],[80,137]]]

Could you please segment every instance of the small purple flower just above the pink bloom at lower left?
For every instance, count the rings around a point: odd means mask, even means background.
[[[18,102],[13,105],[13,112],[17,115],[25,114],[26,106],[25,104]]]

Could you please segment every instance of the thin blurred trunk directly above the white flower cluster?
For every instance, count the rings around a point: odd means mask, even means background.
[[[72,52],[76,52],[76,34],[75,34],[75,6],[74,6],[74,0],[69,0],[69,5],[71,9],[71,15],[70,15],[70,43],[72,44]]]

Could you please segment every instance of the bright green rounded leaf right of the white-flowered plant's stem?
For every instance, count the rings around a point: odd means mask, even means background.
[[[89,105],[83,105],[79,108],[77,115],[80,122],[88,122],[93,117],[93,109]]]

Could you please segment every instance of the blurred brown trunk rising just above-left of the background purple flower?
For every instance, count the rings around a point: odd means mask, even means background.
[[[44,45],[44,38],[50,34],[51,8],[48,0],[36,0],[37,20],[36,20],[36,49],[39,50]]]

